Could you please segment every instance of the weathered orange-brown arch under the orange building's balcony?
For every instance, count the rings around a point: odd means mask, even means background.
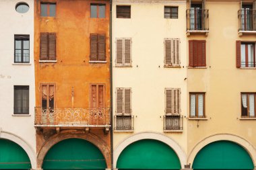
[[[44,142],[44,144],[40,148],[40,151],[38,151],[37,168],[41,169],[42,163],[44,161],[44,157],[45,157],[46,153],[48,153],[48,151],[51,149],[51,147],[53,147],[55,144],[57,144],[61,140],[65,140],[65,139],[69,139],[69,138],[81,138],[84,140],[88,140],[89,142],[94,144],[100,150],[102,155],[104,156],[104,159],[106,161],[106,166],[108,168],[111,167],[110,148],[108,147],[106,142],[104,142],[104,140],[102,140],[95,134],[91,134],[91,133],[86,134],[86,132],[79,130],[79,131],[72,131],[72,132],[70,132],[70,131],[60,132],[59,134],[55,134],[54,136],[49,138],[49,140]]]

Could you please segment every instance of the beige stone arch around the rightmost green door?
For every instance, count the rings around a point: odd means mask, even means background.
[[[201,151],[201,149],[207,144],[210,144],[212,142],[216,142],[219,140],[228,140],[230,142],[234,142],[242,146],[243,148],[245,148],[245,151],[247,151],[247,153],[250,155],[251,159],[253,160],[253,165],[255,166],[256,150],[255,148],[253,148],[253,144],[251,144],[241,136],[236,136],[234,134],[214,134],[212,136],[208,136],[204,138],[199,143],[197,143],[192,149],[191,153],[189,154],[187,164],[190,164],[192,167],[193,161],[197,153],[199,153],[199,151]]]

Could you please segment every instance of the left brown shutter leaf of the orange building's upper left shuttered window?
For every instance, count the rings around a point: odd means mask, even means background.
[[[48,33],[40,33],[40,60],[48,59]]]

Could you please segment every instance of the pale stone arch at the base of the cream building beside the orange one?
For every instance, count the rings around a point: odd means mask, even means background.
[[[156,133],[156,132],[141,132],[134,134],[132,136],[129,136],[128,138],[125,138],[125,140],[121,141],[117,147],[114,150],[114,157],[113,157],[113,168],[117,168],[117,159],[119,158],[119,155],[122,153],[122,151],[131,143],[136,142],[137,140],[142,139],[154,139],[159,140],[160,142],[164,142],[170,148],[173,149],[173,151],[177,154],[179,157],[179,160],[181,161],[181,168],[184,168],[184,165],[187,163],[187,155],[183,151],[183,148],[179,146],[179,144],[174,141],[172,138],[169,138],[168,136],[165,136],[164,134]]]

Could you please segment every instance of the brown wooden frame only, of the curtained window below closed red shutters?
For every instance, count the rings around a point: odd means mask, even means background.
[[[195,95],[195,116],[191,116],[191,95]],[[198,116],[198,95],[203,95],[203,116]],[[205,92],[189,93],[189,118],[206,118],[205,116]]]

